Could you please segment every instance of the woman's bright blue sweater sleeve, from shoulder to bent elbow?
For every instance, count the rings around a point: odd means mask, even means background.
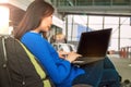
[[[50,48],[50,44],[45,39],[24,39],[22,41],[40,61],[53,83],[60,84],[70,75],[70,62],[63,59],[59,59],[55,49]],[[53,50],[53,52],[51,50]]]

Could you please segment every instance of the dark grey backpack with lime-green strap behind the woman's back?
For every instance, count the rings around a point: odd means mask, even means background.
[[[23,44],[11,36],[0,36],[0,87],[55,86]]]

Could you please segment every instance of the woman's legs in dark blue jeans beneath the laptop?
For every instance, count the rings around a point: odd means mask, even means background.
[[[102,85],[114,84],[115,86],[119,87],[119,74],[108,58],[105,58],[104,61],[85,65],[82,69],[85,71],[85,74],[79,75],[76,78],[74,78],[73,85],[88,84],[93,87],[98,87],[98,85],[100,87]]]

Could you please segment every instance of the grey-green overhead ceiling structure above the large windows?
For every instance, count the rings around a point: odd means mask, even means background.
[[[131,16],[131,0],[51,0],[62,14]]]

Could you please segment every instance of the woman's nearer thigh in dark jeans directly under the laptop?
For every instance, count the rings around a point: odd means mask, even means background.
[[[74,78],[73,85],[88,84],[93,87],[97,87],[103,74],[103,61],[98,61],[96,63],[83,66],[82,69],[85,71],[85,74],[79,75]]]

